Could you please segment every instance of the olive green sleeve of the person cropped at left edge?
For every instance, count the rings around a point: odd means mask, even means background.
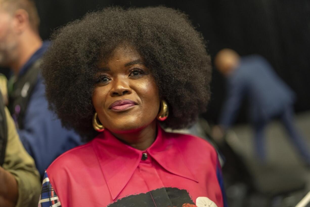
[[[19,139],[15,129],[15,123],[7,108],[5,108],[5,113],[8,138],[2,168],[14,175],[18,183],[18,200],[16,207],[38,206],[41,190],[39,173],[32,157],[26,152]]]

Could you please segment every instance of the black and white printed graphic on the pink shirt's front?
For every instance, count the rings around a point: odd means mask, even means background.
[[[207,197],[198,197],[198,207],[217,207]],[[108,207],[197,207],[186,190],[178,188],[159,188],[147,193],[129,195]]]

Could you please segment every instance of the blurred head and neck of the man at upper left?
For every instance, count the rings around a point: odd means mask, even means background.
[[[15,74],[42,45],[32,0],[0,0],[0,66]]]

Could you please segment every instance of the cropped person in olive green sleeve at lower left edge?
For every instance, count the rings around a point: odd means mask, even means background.
[[[31,207],[38,203],[40,176],[4,107],[0,93],[0,207]]]

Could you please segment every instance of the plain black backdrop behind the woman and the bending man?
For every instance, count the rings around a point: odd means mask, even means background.
[[[308,0],[36,0],[41,17],[40,34],[108,5],[143,7],[165,5],[186,12],[209,41],[212,57],[221,48],[241,55],[258,53],[297,94],[295,109],[310,110],[310,1]],[[225,97],[225,81],[213,72],[212,97],[204,114],[216,122]],[[245,107],[239,121],[245,121]]]

